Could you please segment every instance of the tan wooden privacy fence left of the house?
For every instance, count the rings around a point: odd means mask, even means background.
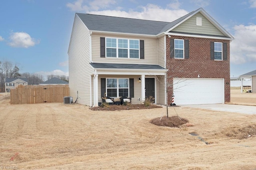
[[[60,103],[69,96],[68,85],[19,85],[11,89],[11,104]]]

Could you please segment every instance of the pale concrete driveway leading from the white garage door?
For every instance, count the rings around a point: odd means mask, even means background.
[[[244,106],[233,104],[201,104],[201,105],[183,105],[181,107],[195,107],[207,110],[227,111],[234,113],[256,114],[256,106]]]

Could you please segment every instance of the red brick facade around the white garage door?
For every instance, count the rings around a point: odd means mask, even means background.
[[[170,39],[189,40],[189,59],[170,58]],[[227,60],[210,59],[210,42],[227,43]],[[197,37],[166,36],[166,67],[168,96],[173,93],[173,78],[224,78],[225,102],[230,102],[230,40]],[[170,105],[170,98],[168,98]]]

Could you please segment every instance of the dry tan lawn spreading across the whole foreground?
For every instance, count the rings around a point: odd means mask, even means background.
[[[191,126],[151,124],[166,108],[92,111],[80,104],[10,105],[2,95],[0,168],[256,169],[256,115],[169,107],[170,116],[176,115],[174,109]]]

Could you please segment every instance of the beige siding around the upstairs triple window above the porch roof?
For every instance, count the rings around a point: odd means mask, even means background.
[[[126,58],[101,58],[100,57],[100,37],[126,38],[144,40],[145,59],[126,59]],[[157,38],[156,37],[137,37],[132,35],[112,35],[92,33],[92,61],[94,63],[120,63],[120,64],[157,64]]]

